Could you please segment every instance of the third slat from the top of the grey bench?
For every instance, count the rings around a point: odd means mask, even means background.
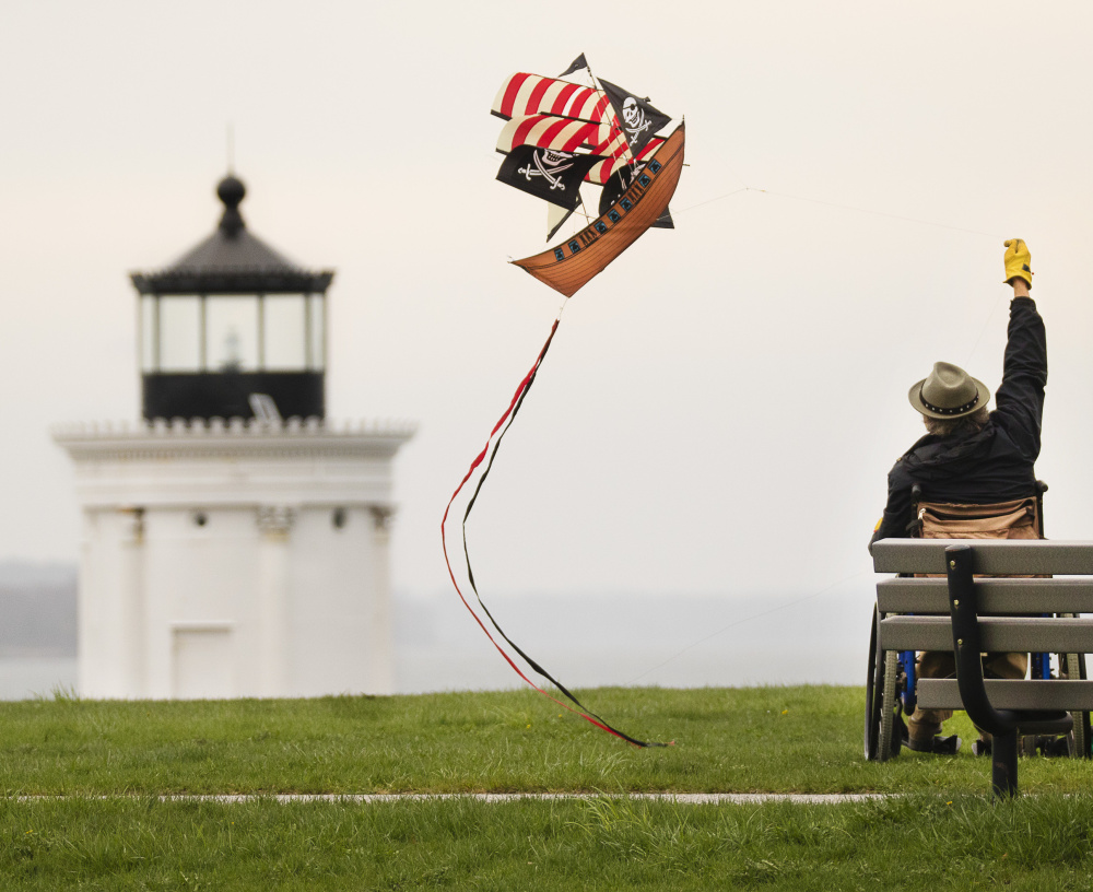
[[[949,617],[886,617],[880,624],[884,650],[952,650]],[[979,620],[984,650],[1093,653],[1093,619],[1022,619],[984,617]]]

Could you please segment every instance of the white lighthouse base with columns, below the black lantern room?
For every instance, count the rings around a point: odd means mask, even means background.
[[[79,693],[392,690],[391,459],[409,426],[68,427],[83,514]]]

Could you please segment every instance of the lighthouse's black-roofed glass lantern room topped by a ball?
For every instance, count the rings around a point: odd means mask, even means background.
[[[251,394],[284,418],[322,418],[333,272],[301,269],[252,235],[238,178],[216,193],[212,235],[166,269],[131,275],[144,418],[249,418]]]

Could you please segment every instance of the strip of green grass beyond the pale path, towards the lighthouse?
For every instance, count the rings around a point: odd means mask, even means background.
[[[599,689],[637,749],[533,691],[208,702],[0,703],[0,790],[167,793],[979,794],[990,764],[861,756],[856,688]],[[972,736],[963,725],[963,736]],[[969,748],[968,748],[969,749]],[[1091,765],[1023,760],[1024,790],[1080,793]]]

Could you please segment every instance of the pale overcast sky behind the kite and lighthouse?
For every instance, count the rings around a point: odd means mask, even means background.
[[[564,313],[471,519],[486,597],[830,590],[863,636],[907,388],[997,387],[1014,235],[1047,530],[1093,539],[1091,39],[1080,2],[3,3],[0,559],[75,559],[50,426],[138,416],[127,273],[212,231],[231,125],[251,231],[338,271],[328,416],[419,425],[393,580],[448,609],[445,503],[561,302],[506,263],[544,214],[490,105],[581,51],[686,116],[690,166]]]

